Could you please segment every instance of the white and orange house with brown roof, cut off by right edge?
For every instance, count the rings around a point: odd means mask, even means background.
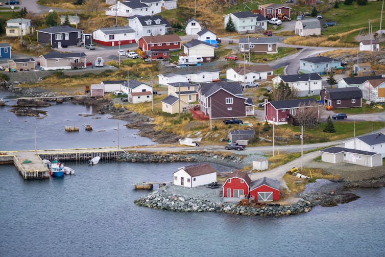
[[[385,78],[369,79],[363,83],[363,99],[373,103],[385,102]]]

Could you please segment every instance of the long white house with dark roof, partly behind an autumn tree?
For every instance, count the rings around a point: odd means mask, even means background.
[[[320,95],[322,89],[322,78],[317,73],[277,76],[272,79],[273,85],[278,85],[281,80],[297,89],[299,97]]]

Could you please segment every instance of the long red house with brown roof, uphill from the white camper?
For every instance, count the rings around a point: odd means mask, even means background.
[[[143,51],[153,50],[180,50],[182,39],[178,35],[145,36],[138,41],[139,48]]]

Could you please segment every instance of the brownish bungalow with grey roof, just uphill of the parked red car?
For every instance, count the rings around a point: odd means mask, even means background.
[[[239,38],[239,52],[276,54],[278,53],[278,37],[241,37]]]

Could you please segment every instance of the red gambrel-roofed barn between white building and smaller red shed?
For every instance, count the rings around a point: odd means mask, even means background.
[[[251,179],[244,171],[235,171],[230,173],[226,177],[226,181],[223,184],[223,197],[239,199],[240,196],[248,196],[250,189]],[[225,201],[225,199],[224,199]],[[231,201],[231,200],[230,200]]]

